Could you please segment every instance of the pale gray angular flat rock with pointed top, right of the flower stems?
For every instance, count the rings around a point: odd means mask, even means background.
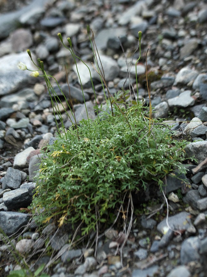
[[[189,107],[193,106],[195,103],[195,100],[193,97],[191,97],[191,90],[186,90],[179,94],[177,97],[170,98],[167,100],[167,103],[170,107]]]

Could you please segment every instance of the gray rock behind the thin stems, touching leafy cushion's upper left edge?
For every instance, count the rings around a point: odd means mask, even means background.
[[[87,113],[86,113],[86,108],[87,108],[87,112],[88,112],[88,117],[91,119],[94,119],[96,117],[95,113],[94,113],[94,107],[92,102],[88,101],[86,102],[86,107],[84,104],[82,104],[76,111],[75,111],[75,118],[76,118],[76,123],[79,124],[79,122],[82,119],[86,119],[87,120]],[[74,118],[71,118],[73,124],[75,124],[75,120]],[[65,128],[69,128],[70,126],[72,126],[72,122],[70,121],[66,121],[65,122]]]

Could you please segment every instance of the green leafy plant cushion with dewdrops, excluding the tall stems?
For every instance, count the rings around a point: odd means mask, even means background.
[[[127,210],[128,199],[146,184],[154,181],[161,190],[168,173],[185,171],[185,141],[174,140],[158,120],[149,125],[137,105],[115,105],[113,112],[83,120],[48,146],[32,203],[36,211],[44,208],[39,222],[81,223],[82,235],[97,231],[113,223],[120,207]]]

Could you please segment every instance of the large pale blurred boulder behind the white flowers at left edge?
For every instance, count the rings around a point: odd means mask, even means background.
[[[35,59],[35,57],[33,58]],[[0,68],[0,95],[10,94],[22,86],[26,86],[29,82],[34,82],[35,78],[29,76],[30,71],[22,71],[17,68],[18,62],[23,62],[30,70],[37,69],[26,52],[1,57],[0,63],[4,66]]]

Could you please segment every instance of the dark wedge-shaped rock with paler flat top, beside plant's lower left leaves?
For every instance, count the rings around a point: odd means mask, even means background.
[[[32,197],[27,188],[18,188],[13,191],[8,191],[3,195],[3,202],[9,211],[19,208],[27,208]]]

